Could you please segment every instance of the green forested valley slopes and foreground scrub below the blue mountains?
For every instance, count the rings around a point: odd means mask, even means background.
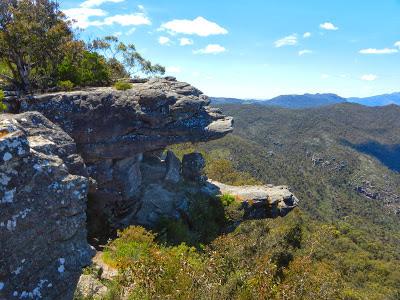
[[[223,110],[235,118],[233,134],[175,153],[201,152],[220,182],[288,184],[300,207],[229,229],[238,208],[225,195],[203,199],[189,228],[171,220],[157,236],[130,228],[106,250],[122,274],[106,283],[107,297],[399,299],[400,108]]]

